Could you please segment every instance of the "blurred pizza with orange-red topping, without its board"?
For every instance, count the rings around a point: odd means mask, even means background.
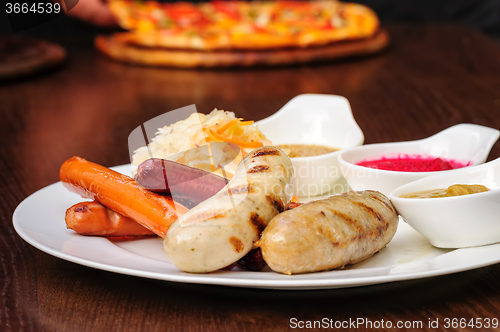
[[[367,38],[379,27],[366,6],[338,1],[160,3],[112,0],[129,43],[175,49],[310,47]]]

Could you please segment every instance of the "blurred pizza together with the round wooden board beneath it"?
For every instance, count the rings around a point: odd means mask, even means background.
[[[97,48],[113,59],[145,65],[289,64],[373,53],[388,43],[370,8],[334,0],[108,5],[127,32],[99,36]]]

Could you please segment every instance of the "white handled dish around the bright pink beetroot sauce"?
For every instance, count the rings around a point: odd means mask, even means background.
[[[389,195],[392,190],[406,183],[456,170],[396,172],[359,166],[356,163],[381,157],[419,155],[453,159],[477,165],[486,161],[499,135],[500,132],[496,129],[462,123],[417,141],[369,144],[346,150],[340,153],[339,164],[342,174],[353,190],[371,189]]]

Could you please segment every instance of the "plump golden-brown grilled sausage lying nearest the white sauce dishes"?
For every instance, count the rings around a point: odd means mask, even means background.
[[[349,192],[279,214],[257,245],[276,272],[331,270],[371,257],[391,241],[397,225],[387,197],[370,190]]]

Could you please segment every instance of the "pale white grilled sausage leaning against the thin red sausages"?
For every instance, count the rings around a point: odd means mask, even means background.
[[[164,250],[187,272],[211,272],[237,262],[292,198],[290,158],[275,147],[250,152],[215,196],[170,226]]]

